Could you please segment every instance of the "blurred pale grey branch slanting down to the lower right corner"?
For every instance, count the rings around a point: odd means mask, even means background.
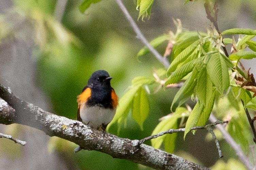
[[[209,120],[211,122],[215,122],[217,119],[211,114]],[[254,170],[253,165],[250,163],[250,160],[243,153],[240,145],[238,145],[235,142],[235,140],[230,136],[230,134],[226,131],[226,129],[222,125],[217,125],[216,128],[218,128],[221,131],[223,138],[235,150],[237,156],[239,157],[241,162],[244,164],[244,166],[249,170]]]

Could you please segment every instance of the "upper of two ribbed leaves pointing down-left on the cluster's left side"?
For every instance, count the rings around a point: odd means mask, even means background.
[[[166,75],[170,75],[171,72],[174,72],[178,64],[185,61],[187,57],[192,54],[192,52],[198,47],[199,41],[195,41],[189,45],[185,50],[183,50],[179,55],[172,61],[170,67],[168,68]]]

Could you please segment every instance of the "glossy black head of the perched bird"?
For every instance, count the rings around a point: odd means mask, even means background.
[[[91,88],[111,88],[110,80],[112,77],[105,70],[94,72],[88,80],[87,86]]]

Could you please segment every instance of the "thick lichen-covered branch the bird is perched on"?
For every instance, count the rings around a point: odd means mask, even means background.
[[[83,149],[96,150],[114,158],[131,160],[155,169],[208,169],[176,155],[141,144],[139,140],[120,138],[112,134],[87,127],[82,122],[71,120],[42,110],[31,103],[20,100],[0,84],[0,123],[18,123],[44,131],[76,143]],[[14,110],[15,109],[15,110]]]

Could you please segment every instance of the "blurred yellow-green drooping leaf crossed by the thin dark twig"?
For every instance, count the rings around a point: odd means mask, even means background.
[[[168,118],[162,120],[159,122],[159,124],[156,126],[154,131],[152,132],[152,135],[169,130],[169,129],[176,129],[177,128],[177,120],[178,118],[181,118],[183,116],[183,113],[188,114],[188,110],[186,108],[177,108],[176,111],[170,115],[168,115]],[[175,139],[177,134],[165,134],[162,136],[159,136],[158,138],[151,139],[151,144],[154,148],[158,149],[161,147],[162,143],[164,142],[165,150],[167,152],[173,152],[175,147]]]

